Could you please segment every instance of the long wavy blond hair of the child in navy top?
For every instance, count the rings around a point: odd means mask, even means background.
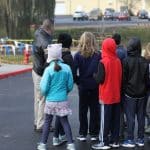
[[[97,52],[96,38],[91,32],[84,32],[79,41],[78,45],[81,55],[88,58],[91,57],[95,52]]]

